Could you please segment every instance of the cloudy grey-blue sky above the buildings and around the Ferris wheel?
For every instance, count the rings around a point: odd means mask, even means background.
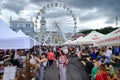
[[[26,19],[31,18],[34,17],[43,6],[52,2],[63,3],[73,11],[77,18],[78,30],[85,28],[96,29],[106,26],[116,27],[116,17],[118,17],[118,26],[120,26],[120,0],[0,0],[0,18],[7,24],[9,23],[10,16],[12,16],[13,19],[20,17]],[[56,16],[52,15],[57,13],[54,13],[54,9],[49,11],[52,13],[51,16],[49,16],[50,14],[48,15],[48,21],[55,20]],[[62,14],[59,10],[57,12]],[[69,15],[64,14],[64,18],[68,16]],[[59,19],[61,20],[61,18],[58,17],[57,21],[59,21]],[[65,23],[61,22],[59,24]]]

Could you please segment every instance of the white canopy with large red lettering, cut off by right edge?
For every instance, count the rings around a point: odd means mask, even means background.
[[[116,46],[120,45],[120,28],[107,34],[95,43],[96,46]]]

